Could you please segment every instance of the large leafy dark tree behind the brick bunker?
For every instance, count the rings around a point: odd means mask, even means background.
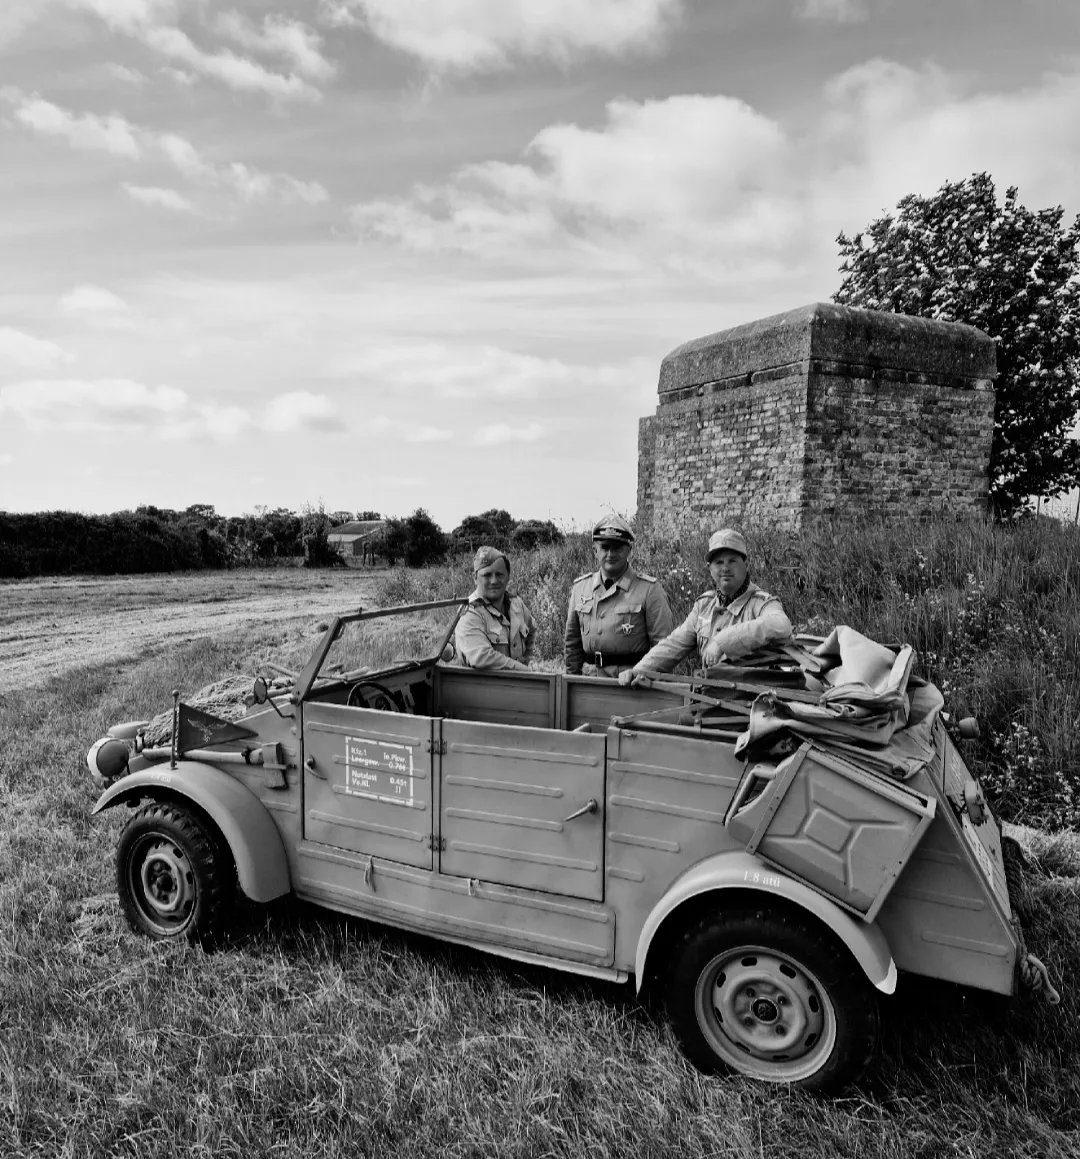
[[[1080,481],[1080,217],[1031,211],[985,173],[837,238],[846,306],[966,322],[998,344],[990,498],[1009,515]]]

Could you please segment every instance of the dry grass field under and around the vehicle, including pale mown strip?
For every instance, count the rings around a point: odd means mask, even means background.
[[[778,570],[789,557],[775,548]],[[554,592],[555,562],[516,575]],[[410,597],[462,577],[391,578]],[[329,613],[382,603],[382,582],[290,569],[0,585],[0,1156],[1080,1156],[1067,832],[1017,831],[1036,859],[1029,943],[1061,1005],[902,984],[880,1062],[831,1100],[702,1077],[628,987],[305,906],[246,912],[210,954],[131,933],[112,876],[124,818],[89,816],[89,743],[174,687],[295,662]],[[786,602],[818,612],[795,589]]]

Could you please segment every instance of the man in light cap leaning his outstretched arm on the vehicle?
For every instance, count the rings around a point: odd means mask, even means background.
[[[620,673],[620,683],[638,683],[643,670],[670,672],[695,649],[701,666],[709,669],[790,640],[791,621],[780,600],[750,580],[749,552],[740,532],[732,527],[713,532],[705,561],[712,589],[698,597],[689,615],[633,671]]]

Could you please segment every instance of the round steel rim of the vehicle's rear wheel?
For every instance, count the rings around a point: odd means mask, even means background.
[[[717,954],[698,976],[694,1013],[716,1055],[772,1083],[817,1072],[837,1041],[837,1016],[818,978],[764,946]]]

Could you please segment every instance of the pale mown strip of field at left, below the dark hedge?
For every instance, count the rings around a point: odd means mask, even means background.
[[[378,576],[282,568],[0,583],[0,692],[243,624],[324,619],[367,604]]]

